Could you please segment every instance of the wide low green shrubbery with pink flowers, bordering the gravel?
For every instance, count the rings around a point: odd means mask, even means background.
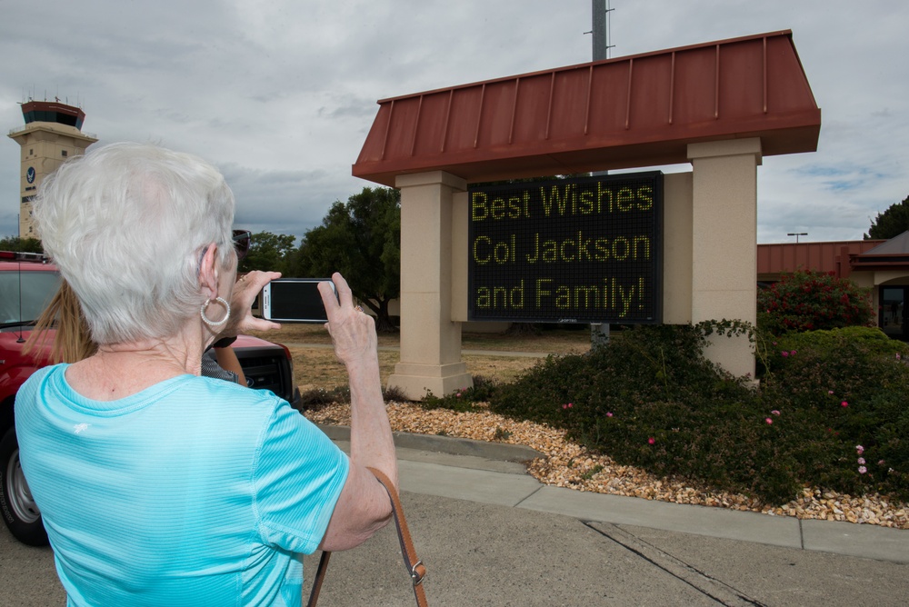
[[[490,408],[564,428],[618,463],[766,503],[805,485],[907,499],[909,367],[897,357],[904,344],[880,334],[771,340],[770,374],[754,390],[704,359],[702,331],[636,327],[591,353],[546,359],[494,390]]]

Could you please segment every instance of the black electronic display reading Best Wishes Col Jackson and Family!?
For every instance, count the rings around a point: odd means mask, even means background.
[[[663,174],[476,186],[467,317],[660,323]]]

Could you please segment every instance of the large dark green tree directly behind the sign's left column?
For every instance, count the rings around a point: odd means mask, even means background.
[[[305,234],[291,266],[309,276],[340,272],[376,315],[376,330],[395,330],[388,303],[401,294],[401,193],[363,188],[332,204],[322,225]]]

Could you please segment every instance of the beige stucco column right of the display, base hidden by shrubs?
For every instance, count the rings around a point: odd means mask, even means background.
[[[757,166],[761,140],[689,144],[693,167],[691,321],[757,322]],[[714,336],[704,355],[754,377],[746,336]]]

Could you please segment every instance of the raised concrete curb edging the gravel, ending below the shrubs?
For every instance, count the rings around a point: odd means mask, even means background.
[[[350,440],[350,428],[348,426],[316,425],[333,441]],[[395,436],[395,446],[402,449],[416,449],[433,453],[448,453],[450,455],[472,455],[487,460],[517,463],[529,462],[544,456],[543,453],[523,444],[486,443],[485,441],[474,441],[469,438],[435,436],[432,434],[405,432],[393,432],[392,434]]]

